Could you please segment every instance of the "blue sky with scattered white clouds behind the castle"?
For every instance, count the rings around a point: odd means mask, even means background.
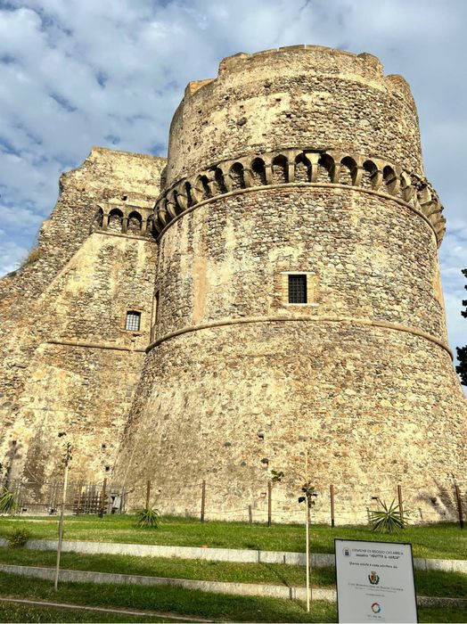
[[[184,86],[222,58],[312,44],[373,53],[418,106],[445,206],[441,275],[453,350],[467,344],[465,0],[0,0],[0,275],[34,245],[62,171],[93,145],[159,156]]]

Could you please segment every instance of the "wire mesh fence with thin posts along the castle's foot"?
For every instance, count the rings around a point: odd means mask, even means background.
[[[317,488],[313,498],[312,518],[320,523],[352,524],[370,520],[371,513],[381,509],[381,502],[395,502],[413,523],[459,521],[467,512],[467,488],[454,482],[416,488],[395,484],[392,488],[373,487],[350,491],[334,484]],[[60,481],[17,481],[8,486],[16,504],[10,513],[54,515],[61,510],[63,484]],[[119,484],[103,480],[98,483],[70,482],[64,511],[68,514],[105,515],[132,512],[136,508],[157,507],[164,515],[199,518],[200,521],[223,520],[244,522],[295,522],[305,517],[296,491],[282,483],[266,480],[258,489],[244,492],[219,488],[209,480],[195,482],[147,480]]]

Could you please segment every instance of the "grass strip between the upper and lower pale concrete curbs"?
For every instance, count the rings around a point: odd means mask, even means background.
[[[22,548],[0,548],[0,562],[53,567],[56,554]],[[238,583],[269,583],[299,587],[305,585],[305,568],[280,563],[209,562],[190,559],[135,557],[123,554],[61,554],[61,568],[175,579],[218,580]],[[415,571],[419,595],[467,598],[467,574]],[[314,568],[313,587],[334,587],[334,568]]]

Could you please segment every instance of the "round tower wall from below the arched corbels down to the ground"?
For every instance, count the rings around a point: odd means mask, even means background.
[[[287,275],[302,272],[308,303],[290,304]],[[178,217],[160,239],[157,333],[119,457],[135,491],[151,479],[161,509],[196,513],[192,483],[207,480],[211,513],[247,518],[248,505],[264,514],[274,469],[274,517],[297,520],[307,448],[348,521],[398,482],[415,508],[452,513],[439,491],[463,480],[467,410],[438,280],[432,228],[383,194],[265,187]]]

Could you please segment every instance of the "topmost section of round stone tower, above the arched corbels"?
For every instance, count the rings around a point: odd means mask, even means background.
[[[168,185],[251,152],[301,145],[389,159],[422,175],[414,100],[371,54],[294,46],[238,54],[187,89],[170,128]]]

